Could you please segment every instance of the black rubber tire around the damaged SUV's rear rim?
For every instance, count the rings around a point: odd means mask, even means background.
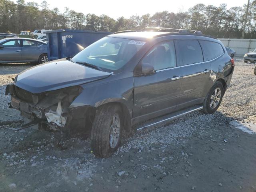
[[[213,104],[212,101],[213,101],[215,98],[212,99],[211,97],[212,97],[212,94],[214,94],[214,92],[215,92],[216,89],[217,89],[217,91],[220,90],[221,92],[220,92],[220,98],[218,98],[218,99],[219,99],[218,104],[214,107],[214,106],[212,106],[211,104]],[[222,101],[223,95],[224,95],[224,88],[223,88],[223,85],[222,85],[221,82],[217,81],[217,82],[212,86],[212,88],[209,90],[209,92],[207,93],[207,95],[206,95],[206,97],[205,97],[205,99],[204,99],[204,103],[203,103],[203,107],[204,107],[204,108],[202,109],[202,111],[203,111],[204,113],[206,113],[206,114],[214,113],[214,112],[219,108],[220,103],[221,103],[221,101]],[[217,98],[216,98],[216,99],[217,99]],[[216,104],[216,102],[215,102],[215,104]],[[213,108],[212,108],[212,107],[213,107]]]

